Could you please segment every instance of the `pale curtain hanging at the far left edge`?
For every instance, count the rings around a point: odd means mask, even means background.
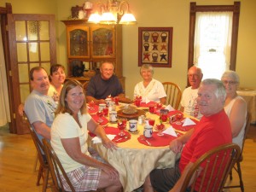
[[[0,26],[0,126],[10,122],[9,97]]]

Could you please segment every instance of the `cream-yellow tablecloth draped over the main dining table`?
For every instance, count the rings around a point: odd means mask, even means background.
[[[159,116],[154,114],[146,115],[159,119]],[[116,127],[116,124],[108,123],[108,126]],[[95,148],[103,159],[118,170],[124,192],[131,192],[143,185],[145,178],[154,168],[174,166],[179,155],[174,154],[169,146],[149,147],[139,143],[137,137],[143,134],[143,125],[138,125],[138,131],[137,134],[131,134],[131,139],[125,143],[118,143],[117,150],[105,148],[102,143],[90,143],[90,147]]]

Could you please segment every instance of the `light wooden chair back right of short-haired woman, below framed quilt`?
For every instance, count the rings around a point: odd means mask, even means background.
[[[171,105],[172,108],[177,109],[182,97],[182,91],[177,84],[172,82],[164,82],[164,89],[166,90],[166,105]]]

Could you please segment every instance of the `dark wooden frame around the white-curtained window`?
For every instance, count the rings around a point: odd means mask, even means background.
[[[237,53],[237,39],[238,26],[240,15],[240,2],[234,2],[234,5],[196,5],[195,2],[190,3],[190,17],[189,17],[189,61],[188,70],[194,65],[194,44],[195,44],[195,15],[196,12],[233,12],[232,23],[232,38],[230,50],[230,70],[236,71],[236,53]],[[187,80],[189,86],[189,80]]]

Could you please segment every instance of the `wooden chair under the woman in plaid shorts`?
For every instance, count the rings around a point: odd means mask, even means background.
[[[69,178],[67,177],[67,173],[65,172],[63,166],[61,165],[61,161],[55,154],[54,149],[51,147],[50,143],[46,141],[46,139],[43,139],[43,143],[44,143],[45,154],[49,162],[49,171],[51,173],[52,180],[53,180],[52,191],[65,192],[63,182],[61,180],[61,175],[62,175],[62,177],[64,177],[67,181],[67,184],[70,188],[69,191],[75,192],[75,189],[73,188],[73,184],[70,182]],[[103,189],[96,190],[96,192],[101,192],[101,191],[103,192],[104,190]]]

